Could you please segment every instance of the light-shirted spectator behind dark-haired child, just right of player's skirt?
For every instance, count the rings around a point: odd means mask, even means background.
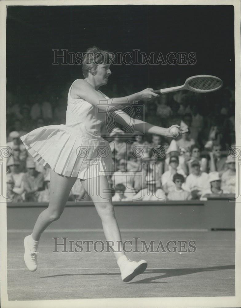
[[[126,187],[125,196],[128,194],[135,194],[134,191],[134,175],[130,175],[130,172],[126,171],[126,160],[121,159],[119,162],[119,170],[113,173],[112,180],[116,187],[117,184],[123,184]]]

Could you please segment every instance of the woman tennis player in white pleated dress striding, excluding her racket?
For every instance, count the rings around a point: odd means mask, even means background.
[[[120,245],[121,235],[112,205],[111,193],[106,193],[109,184],[106,175],[111,172],[112,159],[109,143],[102,139],[101,124],[114,117],[125,126],[140,131],[143,121],[134,120],[124,111],[118,112],[117,106],[126,106],[136,100],[148,101],[159,95],[147,88],[124,98],[109,99],[99,87],[108,83],[111,75],[108,64],[108,52],[97,47],[89,48],[83,59],[85,79],[73,82],[68,93],[66,124],[49,125],[37,128],[21,137],[26,149],[34,159],[50,168],[50,201],[49,206],[40,213],[31,235],[24,239],[24,261],[29,270],[37,270],[37,248],[43,231],[61,216],[70,190],[79,178],[101,218],[107,241],[112,241],[114,255],[124,282],[132,280],[147,267],[147,262],[130,261]],[[98,64],[97,64],[98,63]],[[106,112],[97,112],[101,102],[108,104]],[[103,111],[104,108],[102,108]],[[106,108],[105,108],[106,109]],[[113,112],[112,112],[113,111]],[[177,135],[182,132],[178,125]],[[173,137],[171,128],[161,128],[145,123],[148,133]],[[104,193],[105,192],[105,193]],[[119,245],[118,245],[119,243]]]

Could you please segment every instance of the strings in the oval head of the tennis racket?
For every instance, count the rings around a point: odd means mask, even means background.
[[[211,91],[222,87],[222,81],[214,77],[196,77],[188,81],[194,91]]]

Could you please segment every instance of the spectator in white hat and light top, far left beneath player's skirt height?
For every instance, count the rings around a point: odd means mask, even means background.
[[[24,172],[21,172],[19,160],[14,160],[13,156],[10,156],[7,160],[7,172],[14,179],[14,193],[21,195],[24,192],[23,176]]]

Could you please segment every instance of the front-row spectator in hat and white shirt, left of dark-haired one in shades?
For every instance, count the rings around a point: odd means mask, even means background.
[[[156,181],[146,177],[146,188],[141,189],[133,198],[132,201],[165,201],[165,193],[161,188],[156,189]]]

